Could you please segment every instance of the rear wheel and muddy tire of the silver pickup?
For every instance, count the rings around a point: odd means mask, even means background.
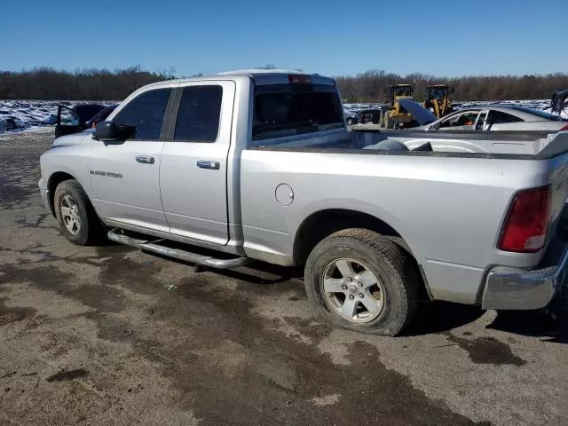
[[[353,281],[347,281],[350,278],[346,279],[337,266],[344,261],[351,264],[351,272],[356,273]],[[327,280],[330,271],[336,278],[329,275],[332,278]],[[372,272],[377,280],[373,287],[367,288],[368,283],[374,280],[367,271]],[[345,229],[320,241],[308,256],[304,279],[308,299],[326,319],[360,333],[398,335],[412,319],[418,306],[419,282],[411,257],[381,234],[365,229]],[[337,288],[336,293],[328,293],[326,290],[330,287],[327,287],[327,281],[334,286],[341,283],[341,290]],[[343,290],[343,287],[347,288]],[[344,292],[343,296],[341,292]],[[348,297],[350,304],[347,305]],[[353,303],[353,312],[356,313],[351,319],[346,319],[340,312],[343,312],[343,308],[349,308],[345,312],[351,312]],[[367,309],[367,306],[374,304],[378,313],[374,307]],[[365,310],[367,312],[363,312]],[[351,316],[351,313],[347,316]]]

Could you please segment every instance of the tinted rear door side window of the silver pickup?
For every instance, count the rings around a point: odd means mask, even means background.
[[[185,87],[177,111],[174,140],[215,142],[222,99],[223,88],[219,85]]]

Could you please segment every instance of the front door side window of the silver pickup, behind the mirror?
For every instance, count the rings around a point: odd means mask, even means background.
[[[133,126],[135,131],[130,139],[158,140],[162,132],[163,116],[170,100],[172,89],[145,91],[122,108],[114,122]]]

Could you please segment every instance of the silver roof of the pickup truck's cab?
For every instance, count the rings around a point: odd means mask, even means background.
[[[252,78],[256,84],[286,84],[289,83],[289,75],[306,75],[312,81],[312,84],[335,85],[335,80],[318,74],[307,74],[294,69],[241,69],[236,71],[226,71],[214,75],[199,75],[188,78],[180,78],[176,80],[166,80],[148,84],[148,86],[160,85],[163,83],[188,83],[215,81],[222,77],[248,77]]]

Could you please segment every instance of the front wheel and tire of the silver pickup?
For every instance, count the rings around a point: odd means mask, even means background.
[[[68,241],[86,246],[99,241],[105,234],[89,197],[75,179],[65,180],[57,185],[53,194],[53,207],[59,229]]]

